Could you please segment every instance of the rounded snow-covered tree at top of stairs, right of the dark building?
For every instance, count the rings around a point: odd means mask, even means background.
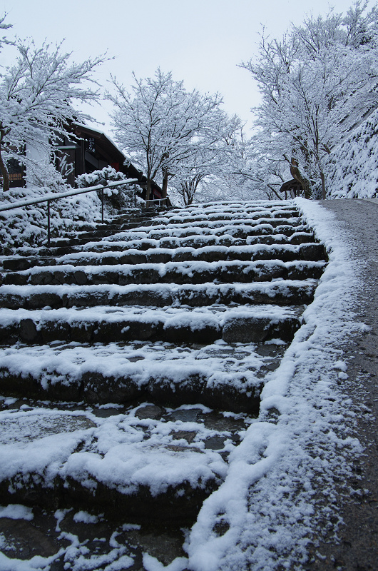
[[[221,136],[224,113],[219,94],[202,95],[186,91],[183,81],[173,81],[172,74],[160,69],[153,78],[137,79],[128,93],[113,78],[116,94],[113,102],[113,126],[121,147],[147,176],[147,199],[150,182],[162,182],[166,196],[168,178],[175,176],[190,161],[197,163],[202,154],[215,146]],[[193,155],[194,153],[194,155]],[[209,156],[205,161],[208,161]]]

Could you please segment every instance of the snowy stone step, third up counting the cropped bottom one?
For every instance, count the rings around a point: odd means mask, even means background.
[[[49,343],[0,348],[0,393],[85,403],[150,400],[257,413],[265,375],[287,342]]]

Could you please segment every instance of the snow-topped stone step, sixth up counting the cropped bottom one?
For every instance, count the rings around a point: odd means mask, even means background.
[[[300,258],[283,262],[279,259],[260,261],[196,261],[166,263],[123,263],[120,266],[52,266],[6,273],[4,285],[131,285],[135,283],[252,283],[281,279],[319,279],[325,262],[303,261],[317,257],[319,248],[298,248],[300,255],[289,252],[282,257]]]

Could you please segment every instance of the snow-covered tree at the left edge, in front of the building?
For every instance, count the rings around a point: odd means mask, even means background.
[[[16,39],[14,46],[16,61],[3,70],[0,80],[0,171],[4,191],[9,188],[9,158],[35,168],[36,161],[24,152],[28,144],[42,154],[51,153],[51,142],[66,133],[70,121],[88,118],[73,108],[73,102],[96,101],[91,72],[104,61],[98,56],[81,64],[71,63],[71,54],[61,51],[61,44],[37,47],[34,42]]]

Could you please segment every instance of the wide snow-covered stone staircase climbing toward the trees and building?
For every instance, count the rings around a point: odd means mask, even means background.
[[[19,254],[0,286],[0,502],[193,521],[300,327],[323,246],[291,202],[248,202]]]

